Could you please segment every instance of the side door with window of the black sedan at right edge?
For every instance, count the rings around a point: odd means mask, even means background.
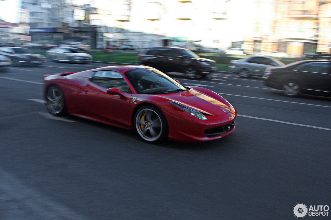
[[[331,94],[331,63],[310,62],[299,66],[295,71],[304,80],[304,90]]]

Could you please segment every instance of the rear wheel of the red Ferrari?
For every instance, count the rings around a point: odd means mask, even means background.
[[[47,110],[57,116],[67,114],[63,92],[57,86],[50,86],[46,91]]]

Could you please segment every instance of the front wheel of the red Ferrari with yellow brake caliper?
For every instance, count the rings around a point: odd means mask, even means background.
[[[160,143],[168,136],[166,117],[155,106],[146,105],[138,109],[133,126],[137,134],[150,143]]]

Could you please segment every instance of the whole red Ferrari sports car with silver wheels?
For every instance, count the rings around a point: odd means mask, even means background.
[[[222,96],[202,87],[184,87],[152,67],[107,66],[43,79],[52,114],[134,129],[148,142],[208,141],[235,129],[237,112]]]

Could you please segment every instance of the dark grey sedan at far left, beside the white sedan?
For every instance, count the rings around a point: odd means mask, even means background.
[[[16,66],[40,65],[46,62],[45,56],[34,54],[31,50],[22,47],[0,47],[0,54],[11,58]]]

